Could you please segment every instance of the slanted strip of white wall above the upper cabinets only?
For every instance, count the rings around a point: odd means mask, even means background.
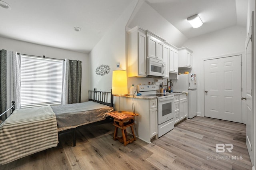
[[[154,34],[164,38],[166,42],[182,47],[181,45],[187,40],[186,36],[175,28],[170,22],[163,18],[156,10],[144,2],[138,12],[133,16],[128,24],[128,28],[140,26]]]

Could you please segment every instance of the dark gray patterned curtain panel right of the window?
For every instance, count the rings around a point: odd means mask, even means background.
[[[68,104],[81,102],[82,62],[69,60]]]

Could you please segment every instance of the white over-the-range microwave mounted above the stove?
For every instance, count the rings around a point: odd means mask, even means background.
[[[147,77],[164,77],[166,63],[154,58],[147,58]]]

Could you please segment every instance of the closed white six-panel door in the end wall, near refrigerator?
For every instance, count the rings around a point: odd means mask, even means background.
[[[242,123],[241,55],[204,61],[204,115]]]

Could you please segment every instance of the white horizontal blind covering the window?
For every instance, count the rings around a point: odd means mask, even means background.
[[[62,95],[62,60],[21,56],[21,107],[58,105]]]

